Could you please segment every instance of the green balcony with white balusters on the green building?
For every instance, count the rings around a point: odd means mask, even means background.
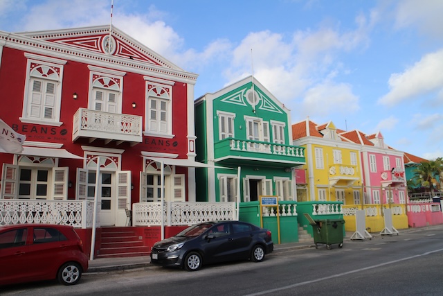
[[[291,168],[305,164],[305,148],[244,139],[227,138],[214,145],[215,162]]]

